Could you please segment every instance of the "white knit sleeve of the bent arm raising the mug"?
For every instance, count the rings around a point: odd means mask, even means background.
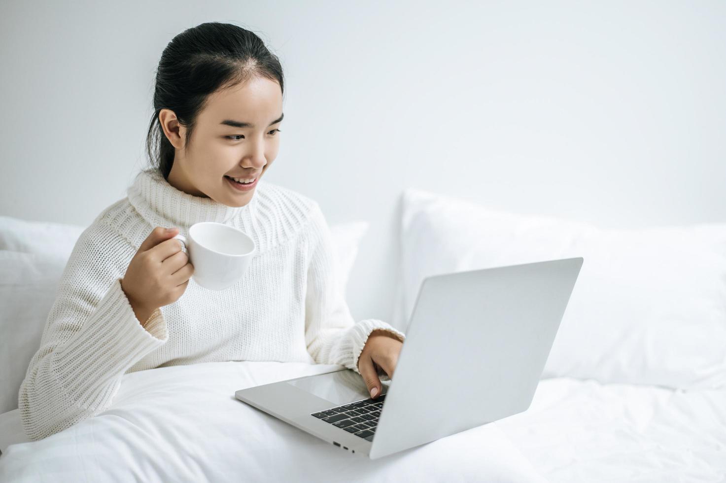
[[[126,370],[166,342],[161,311],[137,320],[121,288],[134,253],[102,220],[78,238],[20,385],[18,407],[31,440],[105,410]]]

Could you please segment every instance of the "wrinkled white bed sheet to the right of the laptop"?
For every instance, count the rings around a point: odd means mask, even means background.
[[[552,378],[497,421],[550,482],[726,482],[726,391]]]

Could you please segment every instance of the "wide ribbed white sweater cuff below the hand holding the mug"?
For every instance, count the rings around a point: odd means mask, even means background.
[[[84,409],[105,407],[126,370],[168,338],[160,310],[146,321],[134,309],[116,278],[76,336],[54,352],[51,367],[60,385]]]

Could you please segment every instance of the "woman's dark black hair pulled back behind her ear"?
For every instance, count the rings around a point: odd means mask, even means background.
[[[174,163],[174,146],[161,127],[160,110],[173,110],[187,128],[186,149],[209,94],[255,76],[277,81],[284,94],[280,60],[251,31],[230,23],[208,22],[172,38],[156,71],[154,114],[146,139],[151,171],[166,179]]]

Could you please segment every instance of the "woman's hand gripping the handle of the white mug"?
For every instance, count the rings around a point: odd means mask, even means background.
[[[174,239],[179,229],[169,230],[152,230],[121,280],[121,288],[142,324],[156,309],[179,299],[194,273],[187,253],[181,250],[181,240]]]

